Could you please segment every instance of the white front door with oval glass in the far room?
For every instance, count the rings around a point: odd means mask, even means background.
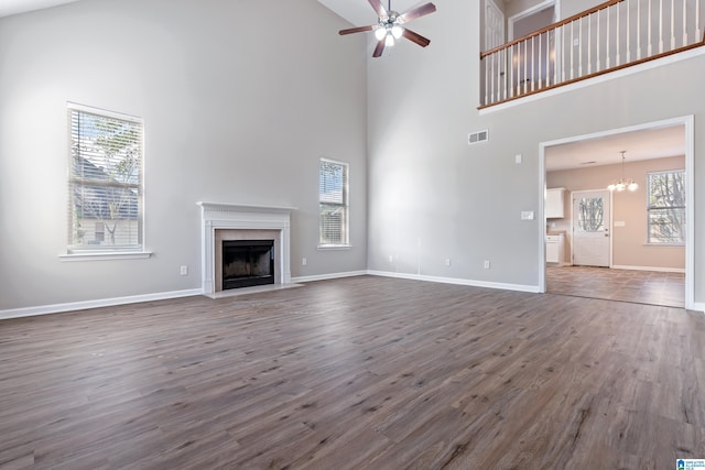
[[[609,267],[609,196],[573,193],[573,264]]]

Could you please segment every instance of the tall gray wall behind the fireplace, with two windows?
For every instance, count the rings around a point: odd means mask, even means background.
[[[315,0],[90,0],[0,19],[0,310],[198,288],[198,200],[296,207],[293,276],[364,270],[367,59],[365,37],[336,34],[347,25]],[[67,101],[144,118],[151,259],[59,261]],[[350,250],[316,249],[322,156],[350,163]]]

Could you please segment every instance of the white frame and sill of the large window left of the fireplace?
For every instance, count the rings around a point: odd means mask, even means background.
[[[137,171],[139,175],[134,182],[116,182],[115,179],[90,179],[74,173],[74,117],[75,116],[97,116],[100,118],[107,118],[110,120],[117,120],[134,124],[139,130],[138,140],[138,164]],[[143,210],[143,194],[144,194],[144,121],[141,118],[137,118],[129,114],[122,114],[113,111],[107,111],[105,109],[88,107],[84,105],[77,105],[73,102],[67,103],[67,118],[68,118],[68,200],[67,200],[67,253],[59,258],[65,261],[76,260],[109,260],[109,259],[126,259],[126,258],[149,258],[150,252],[144,251],[144,210]],[[94,151],[95,152],[95,151]],[[88,151],[86,152],[88,154]],[[94,153],[95,155],[95,153]],[[104,162],[108,164],[108,157]],[[100,159],[96,161],[99,163]],[[97,166],[97,165],[96,165]],[[80,186],[90,185],[93,187],[112,187],[123,188],[124,190],[137,192],[137,228],[134,230],[134,242],[128,242],[123,244],[104,244],[100,240],[96,240],[96,243],[88,243],[84,240],[77,239],[78,226],[76,216],[76,188]],[[108,204],[108,203],[107,203]],[[128,209],[129,210],[129,209]],[[110,220],[110,219],[108,219]],[[106,220],[97,218],[96,221],[105,222]],[[105,237],[108,238],[108,229],[105,229]],[[113,229],[115,230],[115,229]],[[104,240],[105,241],[105,240]]]

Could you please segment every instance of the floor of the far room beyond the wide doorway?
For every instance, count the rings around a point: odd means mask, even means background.
[[[546,292],[682,308],[685,306],[685,274],[546,266]]]

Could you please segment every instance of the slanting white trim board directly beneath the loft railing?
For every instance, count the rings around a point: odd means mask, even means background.
[[[523,98],[517,98],[511,101],[502,102],[500,105],[494,105],[487,108],[479,109],[478,114],[479,116],[489,114],[490,112],[501,111],[508,108],[513,108],[514,106],[523,105],[525,102],[538,101],[540,99],[578,90],[581,88],[592,87],[593,85],[614,80],[616,78],[627,77],[629,75],[638,74],[644,70],[650,70],[652,68],[663,67],[666,65],[674,64],[676,62],[687,61],[690,58],[697,57],[701,55],[705,55],[705,47],[695,47],[677,54],[672,54],[665,57],[660,57],[653,61],[644,62],[643,64],[632,65],[631,67],[620,68],[619,70],[615,70],[615,72],[608,72],[606,74],[598,75],[593,78],[586,78],[584,80],[579,80],[574,84],[563,85],[556,88],[552,88],[550,90],[529,95]]]

